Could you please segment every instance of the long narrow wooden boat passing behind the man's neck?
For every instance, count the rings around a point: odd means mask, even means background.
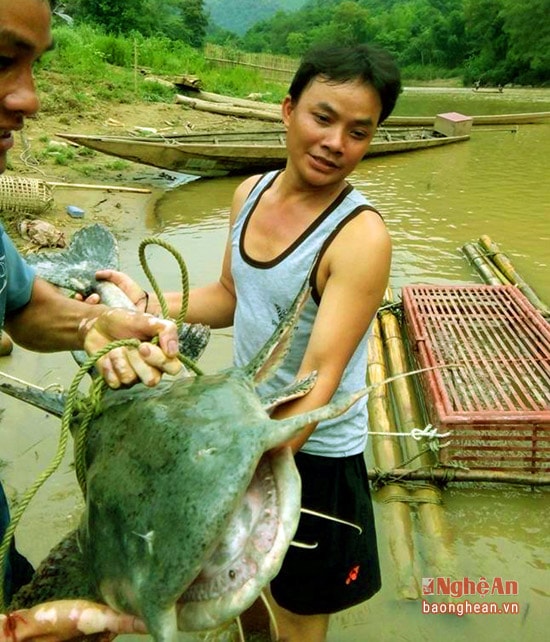
[[[61,138],[111,156],[194,176],[253,174],[283,167],[282,129],[256,132],[193,133],[166,137],[58,134]],[[429,149],[468,140],[469,136],[435,136],[427,130],[384,132],[367,157]]]

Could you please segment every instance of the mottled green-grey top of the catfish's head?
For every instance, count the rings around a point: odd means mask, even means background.
[[[88,435],[80,540],[104,599],[153,617],[220,539],[270,441],[258,429],[269,419],[237,370],[111,398]],[[126,590],[128,578],[139,591]]]

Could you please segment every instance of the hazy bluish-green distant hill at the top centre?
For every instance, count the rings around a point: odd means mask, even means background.
[[[306,0],[204,0],[210,20],[239,35],[277,11],[296,11]]]

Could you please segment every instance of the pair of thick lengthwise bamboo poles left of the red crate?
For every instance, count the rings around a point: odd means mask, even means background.
[[[374,321],[368,353],[370,384],[411,369],[403,328],[391,308],[381,311]],[[401,599],[419,599],[419,578],[454,577],[456,561],[440,488],[425,483],[424,476],[423,483],[410,483],[395,474],[396,470],[406,474],[430,469],[436,461],[425,440],[407,436],[425,426],[415,382],[404,377],[374,388],[369,394],[368,410],[376,465],[369,477],[374,479],[376,498],[383,504],[383,517],[391,524],[387,529],[388,546],[396,570],[397,594]],[[423,535],[421,551],[415,545],[416,528]],[[421,568],[424,565],[427,568]]]

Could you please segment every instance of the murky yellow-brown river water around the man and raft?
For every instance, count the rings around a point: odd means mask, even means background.
[[[468,90],[410,91],[405,93],[400,110],[433,114],[550,109],[548,92],[507,91],[485,96],[475,96]],[[488,234],[508,253],[539,296],[550,302],[549,157],[550,125],[546,124],[517,129],[476,128],[467,143],[363,162],[351,182],[382,212],[391,232],[394,290],[399,293],[407,283],[480,282],[460,247]],[[137,246],[145,236],[159,235],[184,256],[192,285],[217,278],[228,206],[238,182],[236,178],[193,180],[151,197],[135,197],[135,217],[119,238],[121,267],[143,280]],[[74,194],[71,198],[75,200]],[[172,259],[156,248],[148,255],[161,286],[178,288]],[[230,346],[230,331],[216,332],[203,358],[203,368],[212,372],[227,365]],[[37,357],[19,348],[0,362],[0,369],[38,385],[69,385],[75,374],[70,357]],[[50,462],[59,423],[7,398],[0,399],[0,407],[4,408],[0,458],[5,461],[1,472],[10,497],[16,498]],[[457,588],[466,590],[455,601],[462,602],[465,609],[468,602],[476,610],[494,602],[500,612],[462,616],[426,613],[422,599],[400,599],[388,546],[393,525],[385,506],[377,502],[383,588],[370,602],[334,617],[329,642],[547,639],[550,494],[529,488],[476,485],[450,487],[443,498],[452,535],[450,579],[458,582]],[[81,508],[71,455],[67,454],[25,514],[17,535],[20,548],[38,562],[76,524]],[[437,582],[438,573],[444,575],[445,571],[430,567],[433,544],[418,528],[414,509],[413,517],[416,574],[420,581],[427,578],[425,585],[429,586],[429,578]],[[484,591],[485,582],[489,594]],[[436,601],[431,598],[432,603]]]

